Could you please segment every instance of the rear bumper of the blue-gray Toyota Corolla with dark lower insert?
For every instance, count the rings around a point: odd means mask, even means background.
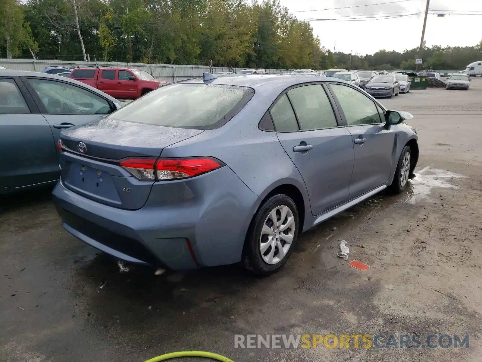
[[[53,199],[70,234],[128,262],[174,270],[239,262],[258,197],[227,166],[169,182],[170,195],[156,182],[139,210],[87,199],[62,181]]]

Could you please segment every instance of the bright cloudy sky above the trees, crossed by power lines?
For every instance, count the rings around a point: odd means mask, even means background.
[[[427,0],[280,0],[280,3],[298,19],[356,19],[310,22],[322,46],[333,51],[336,42],[336,51],[365,55],[380,49],[401,52],[418,47]],[[375,5],[363,6],[367,4]],[[350,8],[305,11],[341,7]],[[430,13],[451,15],[437,17]],[[427,46],[475,45],[482,38],[481,23],[481,0],[430,0],[425,30]]]

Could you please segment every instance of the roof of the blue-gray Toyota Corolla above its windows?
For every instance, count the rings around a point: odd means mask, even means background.
[[[279,95],[283,90],[293,85],[314,83],[314,82],[334,82],[347,84],[345,81],[331,77],[313,77],[312,75],[290,74],[290,73],[265,73],[265,74],[236,74],[231,77],[219,77],[211,81],[203,82],[202,78],[188,79],[174,84],[223,84],[236,85],[253,88],[255,92],[263,95]],[[169,86],[169,85],[166,85]]]

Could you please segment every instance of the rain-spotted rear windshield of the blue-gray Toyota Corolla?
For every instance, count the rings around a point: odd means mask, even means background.
[[[170,84],[114,112],[109,118],[167,127],[214,129],[227,123],[253,97],[248,87]]]

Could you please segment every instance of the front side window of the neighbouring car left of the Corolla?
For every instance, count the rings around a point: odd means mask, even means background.
[[[50,114],[108,114],[111,112],[107,99],[80,88],[45,79],[29,79],[47,113]]]

